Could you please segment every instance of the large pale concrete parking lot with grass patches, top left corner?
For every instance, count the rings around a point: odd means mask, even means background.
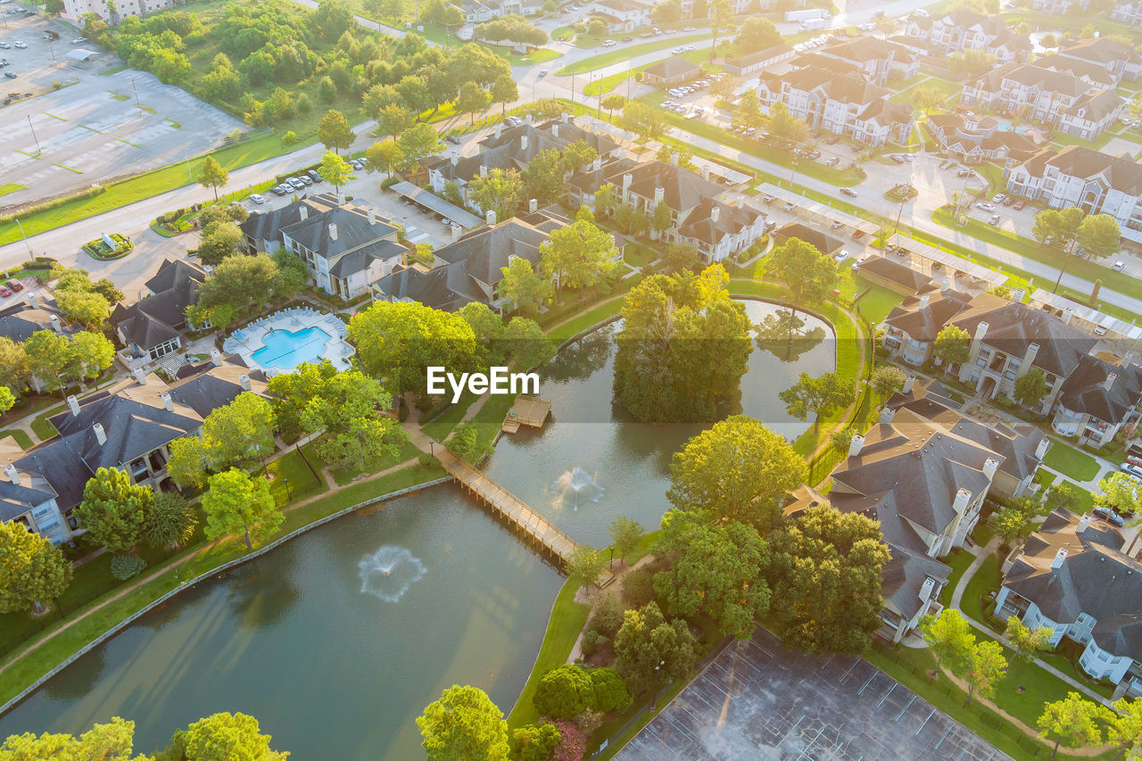
[[[5,94],[35,97],[0,109],[0,207],[54,198],[93,183],[136,174],[194,157],[222,144],[241,122],[152,74],[90,43],[73,43],[77,32],[40,15],[14,17],[0,27]],[[53,30],[58,40],[45,39]],[[16,42],[25,48],[16,47]],[[95,53],[87,63],[69,51]],[[55,86],[59,85],[59,89]],[[138,105],[136,105],[136,98]]]

